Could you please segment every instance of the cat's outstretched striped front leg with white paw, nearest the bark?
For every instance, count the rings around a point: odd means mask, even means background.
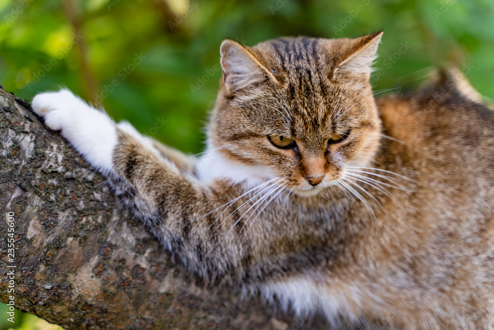
[[[226,265],[237,263],[238,254],[220,258],[219,253],[207,253],[215,245],[210,240],[213,227],[209,221],[217,216],[210,212],[217,205],[210,201],[210,190],[192,173],[181,171],[163,157],[169,150],[160,152],[153,141],[142,137],[130,124],[116,124],[70,91],[38,94],[32,104],[46,126],[60,130],[91,165],[110,179],[125,205],[190,268],[214,277],[231,268]],[[232,236],[222,243],[232,240]]]

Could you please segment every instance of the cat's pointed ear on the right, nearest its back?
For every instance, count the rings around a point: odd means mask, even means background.
[[[372,72],[372,63],[377,57],[377,46],[381,41],[381,36],[382,31],[352,39],[345,45],[333,44],[333,49],[334,46],[337,46],[340,53],[335,56],[332,77],[334,79],[341,79],[343,76],[347,78],[357,77],[368,80]],[[343,40],[337,39],[336,43]]]

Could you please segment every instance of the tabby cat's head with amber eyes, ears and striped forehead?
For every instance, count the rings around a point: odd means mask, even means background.
[[[381,129],[369,83],[381,35],[225,40],[209,143],[299,195],[334,185],[345,167],[369,166]]]

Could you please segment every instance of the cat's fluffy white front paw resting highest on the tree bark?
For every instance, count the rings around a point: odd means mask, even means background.
[[[102,171],[113,168],[113,150],[117,145],[114,121],[94,109],[68,90],[36,95],[33,110],[44,117],[45,125],[61,130],[76,150],[93,166]]]

